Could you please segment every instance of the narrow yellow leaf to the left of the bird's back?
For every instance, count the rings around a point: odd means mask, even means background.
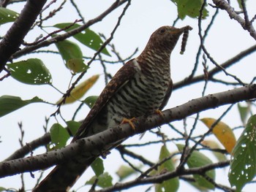
[[[65,104],[71,104],[78,99],[80,99],[84,94],[94,85],[94,83],[98,80],[99,74],[96,74],[92,77],[90,77],[88,80],[85,80],[84,82],[81,82],[79,85],[77,85],[70,93],[70,96],[67,97]],[[56,102],[56,104],[61,103],[63,98],[59,99],[59,101]]]

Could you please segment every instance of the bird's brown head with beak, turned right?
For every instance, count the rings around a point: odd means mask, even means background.
[[[192,30],[192,28],[190,26],[185,26],[183,28],[162,26],[151,34],[147,47],[171,53],[178,42],[178,37],[180,37],[184,31],[188,30]]]

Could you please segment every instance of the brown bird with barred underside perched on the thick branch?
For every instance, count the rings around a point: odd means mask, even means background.
[[[173,88],[170,55],[181,34],[191,29],[162,26],[154,31],[142,53],[127,61],[108,82],[72,142],[127,122],[124,120],[161,111]],[[121,142],[111,143],[106,151]],[[56,165],[33,191],[69,191],[96,158],[80,155]]]

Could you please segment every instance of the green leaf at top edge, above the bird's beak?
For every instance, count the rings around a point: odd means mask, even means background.
[[[202,0],[172,0],[178,8],[178,18],[184,20],[186,16],[190,18],[198,18],[200,15],[200,9],[203,4]],[[203,9],[203,18],[208,16],[208,10]]]

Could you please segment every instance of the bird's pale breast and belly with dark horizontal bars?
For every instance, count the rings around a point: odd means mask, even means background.
[[[142,64],[136,59],[133,63],[137,69],[135,77],[121,87],[108,103],[109,127],[117,126],[123,118],[137,118],[154,113],[159,110],[165,98],[170,70],[157,72],[151,68],[148,72],[142,72]]]

